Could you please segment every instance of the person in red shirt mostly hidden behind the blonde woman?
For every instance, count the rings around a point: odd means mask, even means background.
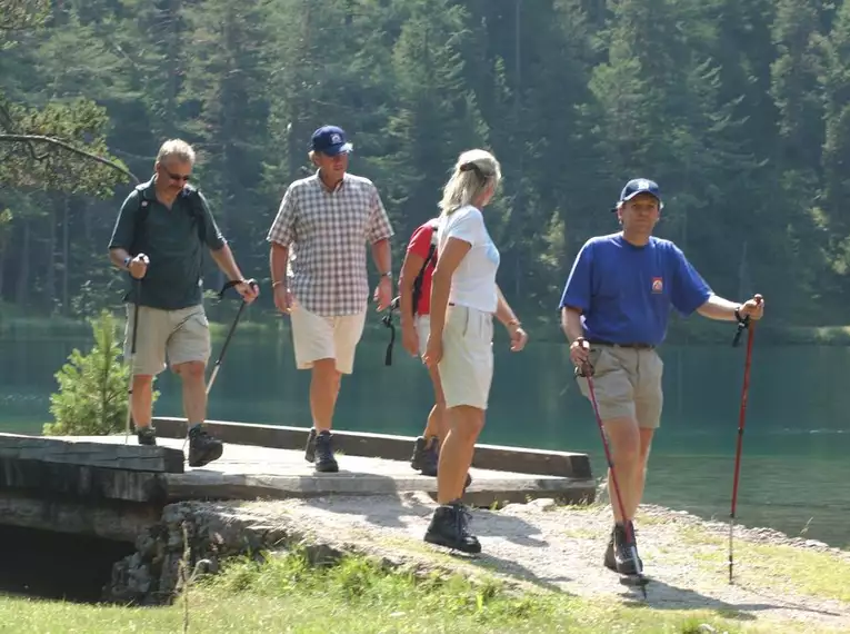
[[[416,357],[424,354],[430,328],[431,276],[437,266],[437,219],[428,220],[413,231],[399,276],[399,313],[401,343]],[[446,439],[446,400],[437,366],[428,369],[433,385],[434,405],[428,415],[424,432],[413,445],[410,466],[426,476],[437,476],[440,445]]]

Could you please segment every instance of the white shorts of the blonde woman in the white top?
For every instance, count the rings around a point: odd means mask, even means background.
[[[468,405],[487,409],[493,380],[492,314],[449,306],[438,367],[447,408]]]

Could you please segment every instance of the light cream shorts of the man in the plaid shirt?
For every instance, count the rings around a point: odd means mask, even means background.
[[[319,359],[334,359],[337,372],[351,374],[354,370],[354,353],[363,335],[366,308],[356,315],[324,317],[293,300],[289,317],[298,369],[310,369]]]

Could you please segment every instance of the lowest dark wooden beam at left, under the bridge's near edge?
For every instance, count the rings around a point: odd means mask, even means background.
[[[162,506],[157,504],[101,502],[90,505],[0,489],[0,523],[23,528],[94,535],[132,544],[161,514]]]

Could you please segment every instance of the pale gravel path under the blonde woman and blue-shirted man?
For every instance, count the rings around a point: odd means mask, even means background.
[[[354,497],[290,499],[279,505],[290,521],[303,522],[318,535],[346,538],[358,544],[392,544],[397,552],[418,554],[446,562],[448,551],[422,542],[434,504],[424,494],[402,497]],[[701,528],[728,537],[728,524],[703,522],[683,512],[642,506],[636,523],[644,572],[652,581],[647,586],[647,603],[653,607],[707,608],[760,621],[799,621],[850,632],[850,604],[793,592],[793,581],[781,575],[759,578],[758,587],[729,584],[728,551],[702,546],[700,552],[718,563],[700,564],[693,547],[687,546],[683,532]],[[511,504],[500,511],[472,512],[472,532],[480,538],[482,554],[453,556],[457,569],[474,571],[523,579],[538,586],[588,597],[643,601],[638,588],[620,583],[620,576],[602,567],[602,555],[611,531],[610,507],[561,507],[551,499]],[[389,541],[388,541],[389,538]],[[782,544],[814,549],[850,563],[850,553],[816,541],[794,539],[763,528],[736,526],[736,539]],[[368,549],[368,546],[366,546]],[[721,552],[717,552],[721,548]],[[706,551],[709,551],[706,553]],[[714,553],[710,552],[714,551]],[[736,572],[749,562],[738,549]],[[802,628],[801,628],[802,631]]]

